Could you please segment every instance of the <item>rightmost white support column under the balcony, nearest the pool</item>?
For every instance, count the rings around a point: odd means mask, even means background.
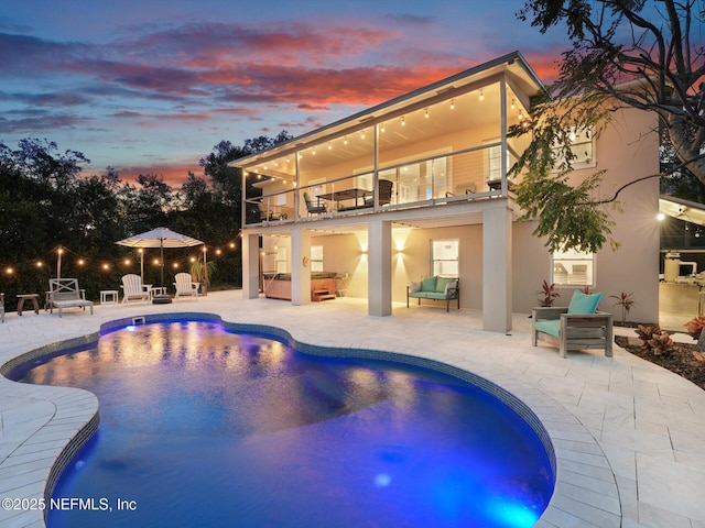
[[[511,330],[511,211],[507,201],[482,211],[482,329]]]

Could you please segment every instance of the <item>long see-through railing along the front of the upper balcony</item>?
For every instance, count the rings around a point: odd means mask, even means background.
[[[507,168],[516,160],[509,150]],[[246,223],[295,222],[497,196],[502,185],[500,143],[381,166],[378,182],[376,189],[370,172],[310,179],[294,188],[247,198]]]

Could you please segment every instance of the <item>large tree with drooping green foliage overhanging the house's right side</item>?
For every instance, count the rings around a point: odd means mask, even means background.
[[[594,252],[614,224],[605,208],[612,196],[596,196],[605,177],[594,174],[573,187],[571,133],[599,135],[615,110],[637,108],[659,116],[677,162],[669,173],[639,175],[628,185],[686,169],[705,184],[705,50],[699,31],[705,13],[696,0],[531,0],[518,13],[545,33],[564,25],[572,48],[564,52],[557,80],[533,105],[531,119],[510,130],[532,134],[512,167],[527,172],[517,201],[539,218],[536,235],[552,250]],[[694,30],[695,26],[695,30]],[[616,245],[610,240],[612,245]]]

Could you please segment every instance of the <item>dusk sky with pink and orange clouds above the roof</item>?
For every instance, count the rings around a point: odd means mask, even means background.
[[[83,152],[85,175],[178,186],[223,140],[303,134],[520,51],[567,47],[523,0],[3,0],[0,141]]]

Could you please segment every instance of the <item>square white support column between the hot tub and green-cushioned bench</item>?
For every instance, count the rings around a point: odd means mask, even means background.
[[[392,224],[381,220],[368,223],[367,312],[392,314]]]

